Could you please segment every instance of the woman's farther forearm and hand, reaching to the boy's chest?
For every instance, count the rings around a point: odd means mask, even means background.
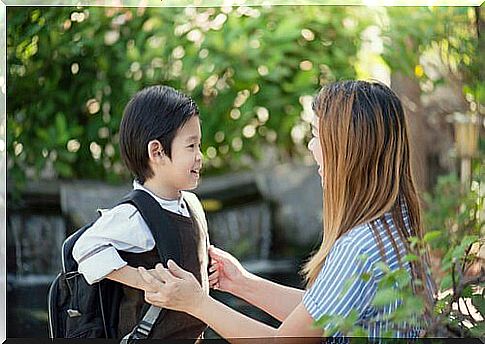
[[[212,287],[229,292],[271,314],[285,320],[301,302],[303,290],[283,286],[258,277],[242,267],[228,252],[211,246]]]

